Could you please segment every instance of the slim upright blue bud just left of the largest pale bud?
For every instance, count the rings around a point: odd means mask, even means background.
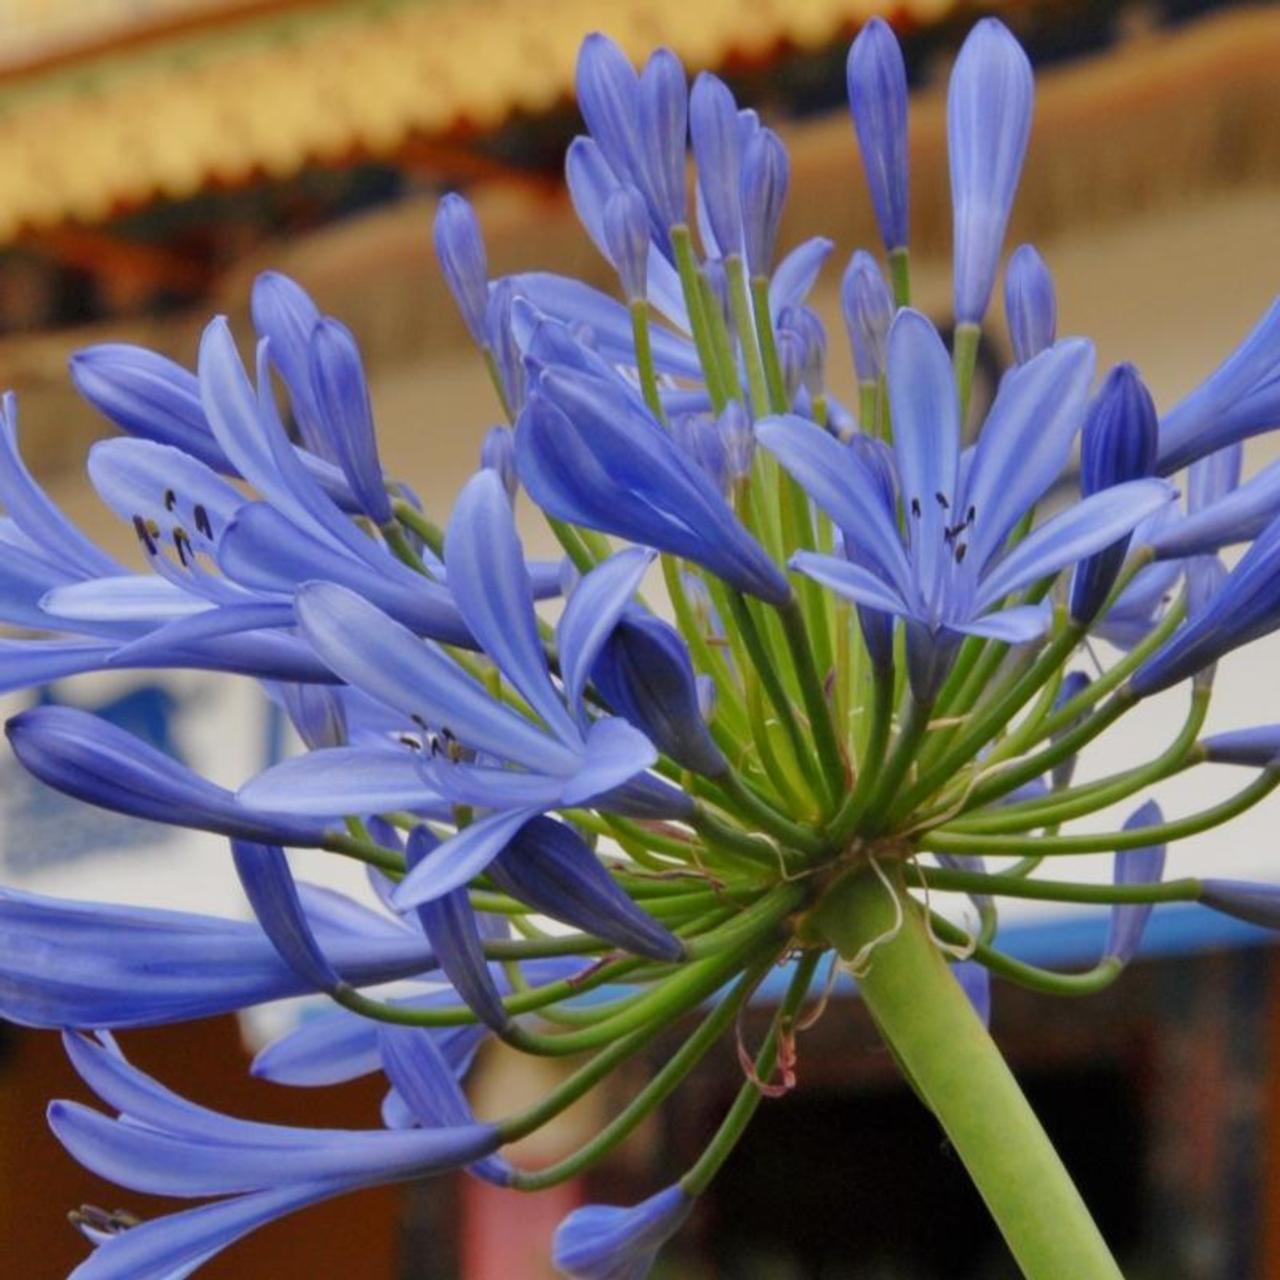
[[[906,65],[888,23],[872,18],[850,46],[849,109],[887,252],[908,242]]]

